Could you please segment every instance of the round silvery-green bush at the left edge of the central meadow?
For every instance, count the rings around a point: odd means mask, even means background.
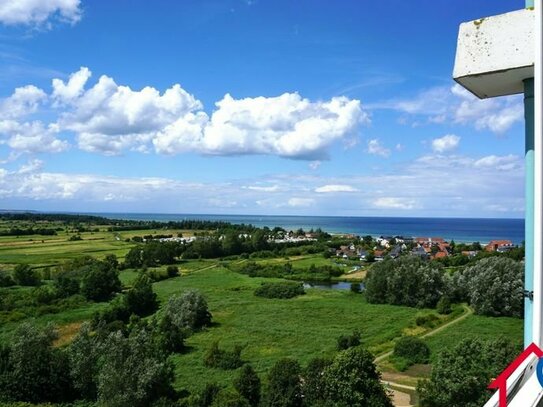
[[[172,295],[164,311],[179,328],[200,329],[211,324],[207,301],[197,290]]]

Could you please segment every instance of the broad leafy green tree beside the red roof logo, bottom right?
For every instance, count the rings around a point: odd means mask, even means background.
[[[487,386],[520,353],[505,339],[466,339],[444,349],[430,380],[419,382],[421,407],[479,407],[493,394]]]

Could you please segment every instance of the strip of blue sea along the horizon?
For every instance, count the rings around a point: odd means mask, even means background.
[[[311,228],[329,233],[354,233],[371,236],[443,237],[456,242],[487,243],[507,239],[515,244],[524,240],[524,219],[475,218],[392,218],[344,216],[263,216],[263,215],[191,215],[153,213],[93,213],[113,219],[179,221],[184,219],[214,220],[275,226],[287,230]]]

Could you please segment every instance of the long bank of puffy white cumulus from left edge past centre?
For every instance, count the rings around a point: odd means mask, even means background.
[[[44,127],[74,134],[80,149],[105,155],[154,150],[311,161],[326,159],[334,143],[356,136],[359,125],[369,122],[360,101],[346,97],[311,101],[297,93],[244,99],[227,94],[208,115],[179,84],[164,92],[151,86],[134,90],[102,75],[89,86],[91,76],[82,67],[66,80],[53,79],[50,95],[33,86],[18,88],[0,101],[0,112],[19,119],[46,103],[48,115],[57,116]]]

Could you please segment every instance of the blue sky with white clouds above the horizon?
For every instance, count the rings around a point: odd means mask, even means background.
[[[522,96],[452,69],[523,7],[0,0],[0,209],[522,218]]]

